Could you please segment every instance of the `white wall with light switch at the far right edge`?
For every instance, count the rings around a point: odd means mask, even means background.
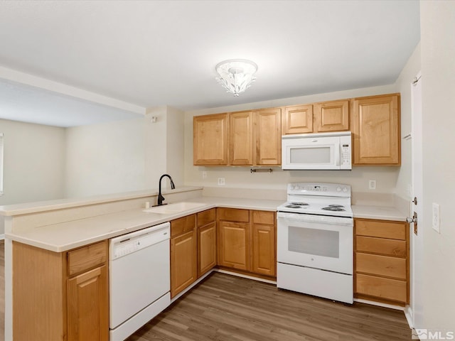
[[[455,1],[420,1],[420,25],[424,328],[455,331]],[[432,202],[440,205],[440,234],[432,229]]]

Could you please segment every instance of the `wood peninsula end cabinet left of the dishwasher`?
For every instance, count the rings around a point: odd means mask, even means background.
[[[107,241],[68,252],[13,242],[14,340],[109,340]]]

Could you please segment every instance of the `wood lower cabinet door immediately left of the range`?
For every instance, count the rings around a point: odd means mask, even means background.
[[[274,225],[252,225],[252,272],[257,274],[275,276],[275,227]]]

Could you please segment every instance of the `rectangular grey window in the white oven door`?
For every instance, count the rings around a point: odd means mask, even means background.
[[[288,233],[289,251],[332,258],[340,256],[340,233],[338,231],[289,226]]]

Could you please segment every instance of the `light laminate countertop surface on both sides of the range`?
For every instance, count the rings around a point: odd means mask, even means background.
[[[259,200],[233,197],[196,197],[191,202],[200,202],[199,207],[173,214],[144,212],[143,209],[97,215],[70,222],[61,222],[42,227],[6,233],[5,237],[16,242],[33,245],[49,251],[63,252],[76,247],[117,237],[162,222],[177,219],[213,207],[228,207],[246,210],[275,211],[282,200]],[[355,218],[405,221],[406,216],[394,207],[353,205]]]

